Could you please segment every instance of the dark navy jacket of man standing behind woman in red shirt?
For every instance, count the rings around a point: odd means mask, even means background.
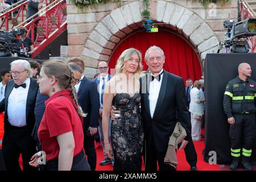
[[[84,76],[77,92],[78,102],[82,111],[86,113],[84,118],[84,131],[88,127],[98,127],[98,110],[100,109],[100,95],[97,90],[96,82]]]

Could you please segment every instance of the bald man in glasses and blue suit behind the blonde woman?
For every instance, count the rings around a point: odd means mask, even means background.
[[[105,155],[105,145],[104,145],[104,137],[103,137],[103,130],[102,130],[102,110],[103,110],[103,93],[106,86],[106,83],[112,78],[111,75],[108,74],[109,67],[108,63],[105,61],[101,61],[98,64],[98,71],[100,71],[100,75],[94,78],[94,82],[98,85],[98,92],[100,93],[100,110],[98,117],[98,134],[100,135],[100,142],[103,148],[103,153]],[[111,126],[111,119],[109,119],[109,126]],[[110,127],[109,127],[110,130]],[[109,131],[109,138],[111,136],[111,131]],[[111,139],[109,139],[111,141]],[[100,162],[100,165],[104,166],[106,164],[112,163],[112,159],[109,159],[108,156],[105,155],[105,158]]]

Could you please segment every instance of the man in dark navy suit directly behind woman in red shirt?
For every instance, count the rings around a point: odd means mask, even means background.
[[[79,65],[77,68],[73,64]],[[90,169],[95,171],[97,155],[94,146],[94,137],[98,127],[98,111],[100,109],[100,96],[97,90],[96,82],[89,80],[84,76],[84,61],[75,58],[68,61],[69,66],[75,77],[75,88],[78,97],[78,103],[81,106],[86,117],[84,118],[84,150],[87,155]]]

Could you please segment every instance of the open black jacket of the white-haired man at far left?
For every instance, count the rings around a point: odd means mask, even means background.
[[[7,104],[8,99],[11,93],[11,90],[14,88],[14,80],[9,80],[6,84],[5,88],[5,98],[0,102],[0,111],[5,111],[5,131],[9,129],[10,123],[8,122],[8,114],[7,114]],[[30,88],[28,89],[27,94],[27,104],[26,104],[26,122],[28,131],[30,134],[32,133],[32,129],[35,125],[35,101],[36,94],[38,93],[38,84],[36,83],[35,78],[30,78]]]

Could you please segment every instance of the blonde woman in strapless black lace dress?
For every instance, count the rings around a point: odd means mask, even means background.
[[[106,84],[102,125],[105,154],[112,159],[114,171],[139,171],[142,165],[143,125],[139,104],[139,74],[142,71],[142,56],[137,49],[122,52],[115,66],[115,76]],[[114,105],[121,111],[120,117],[111,125],[112,146],[109,141],[110,109]]]

